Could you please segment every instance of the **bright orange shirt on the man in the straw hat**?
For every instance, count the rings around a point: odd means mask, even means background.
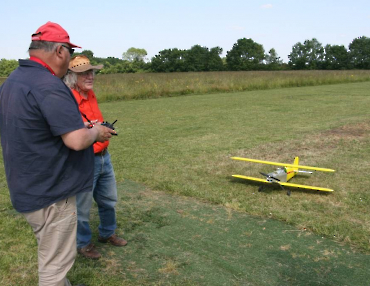
[[[87,93],[87,99],[85,99],[77,90],[72,89],[73,95],[76,98],[78,108],[80,109],[81,114],[85,114],[86,117],[90,121],[98,120],[99,122],[103,122],[104,118],[101,114],[101,111],[98,106],[98,101],[96,99],[94,91],[91,89]],[[82,120],[87,122],[86,118],[82,116]],[[94,153],[99,153],[107,148],[109,145],[109,141],[105,141],[104,143],[96,142],[94,143]]]

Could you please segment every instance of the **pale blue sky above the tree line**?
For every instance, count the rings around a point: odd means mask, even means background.
[[[226,56],[250,38],[284,62],[298,42],[323,46],[370,37],[370,0],[80,0],[2,1],[0,59],[28,57],[31,34],[48,21],[95,57],[122,58],[131,47],[151,59],[161,50],[221,47]]]

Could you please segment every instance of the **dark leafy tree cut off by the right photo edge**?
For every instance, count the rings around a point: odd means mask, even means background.
[[[356,38],[349,45],[351,65],[356,69],[370,69],[370,38]]]

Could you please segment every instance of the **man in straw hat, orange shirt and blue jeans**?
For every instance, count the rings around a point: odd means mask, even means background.
[[[103,122],[98,102],[93,91],[94,70],[101,69],[103,65],[92,66],[84,55],[71,59],[69,71],[64,77],[64,82],[72,89],[77,100],[79,110],[84,121]],[[95,170],[93,191],[77,195],[77,250],[87,258],[99,259],[100,253],[91,242],[91,229],[89,226],[92,199],[96,201],[99,210],[100,242],[108,242],[115,246],[125,246],[127,241],[115,234],[117,202],[117,187],[113,166],[108,153],[109,141],[94,143]]]

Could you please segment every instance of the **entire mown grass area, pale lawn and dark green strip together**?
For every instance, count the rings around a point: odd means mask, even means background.
[[[368,285],[369,82],[101,104],[111,140],[124,249],[78,258],[88,285]],[[333,168],[295,183],[232,179],[273,167],[231,156]],[[1,164],[1,168],[3,168]],[[36,242],[0,170],[1,285],[37,281]],[[187,198],[188,197],[188,198]],[[92,223],[97,226],[96,212]],[[99,271],[97,271],[99,269]],[[21,281],[21,282],[20,282]]]

